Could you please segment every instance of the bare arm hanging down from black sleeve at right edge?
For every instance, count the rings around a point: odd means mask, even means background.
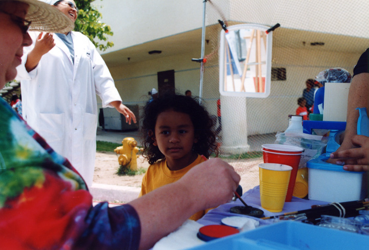
[[[366,108],[369,111],[369,73],[355,75],[348,92],[347,121],[344,139],[336,152],[356,148],[352,137],[357,134],[359,111],[356,108]],[[336,159],[328,162],[336,163]]]

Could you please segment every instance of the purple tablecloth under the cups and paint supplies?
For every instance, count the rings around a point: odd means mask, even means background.
[[[255,188],[250,189],[246,193],[242,195],[242,199],[246,202],[249,206],[256,207],[264,211],[264,216],[274,216],[274,215],[281,215],[288,212],[294,212],[299,210],[311,209],[312,205],[322,205],[328,204],[329,202],[324,201],[317,201],[317,200],[308,200],[308,199],[300,199],[297,197],[292,197],[291,202],[285,202],[283,206],[283,211],[279,213],[272,213],[268,210],[265,210],[261,207],[260,204],[260,190],[259,186],[255,186]],[[218,206],[216,209],[210,210],[206,215],[204,215],[201,219],[197,220],[197,222],[203,225],[212,225],[212,224],[221,224],[221,219],[229,216],[245,216],[247,215],[239,215],[230,212],[231,207],[233,206],[243,206],[242,202],[237,199],[236,201],[231,201],[226,204]],[[260,225],[270,224],[272,223],[271,220],[262,220],[255,217],[251,217],[256,219],[260,222]]]

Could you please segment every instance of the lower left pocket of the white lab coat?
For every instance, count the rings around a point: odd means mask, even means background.
[[[56,143],[61,142],[65,130],[65,114],[40,113],[38,120],[39,134],[54,148]],[[61,144],[61,143],[60,143]]]

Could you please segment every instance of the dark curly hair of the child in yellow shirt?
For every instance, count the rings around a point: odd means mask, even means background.
[[[210,154],[214,152],[218,156],[219,150],[213,129],[215,124],[208,111],[199,104],[197,99],[191,96],[167,93],[148,102],[142,117],[142,133],[144,134],[142,156],[148,159],[150,164],[165,159],[159,148],[153,144],[154,140],[150,135],[155,131],[158,115],[168,110],[185,113],[191,117],[195,137],[198,140],[192,148],[195,153],[209,158]]]

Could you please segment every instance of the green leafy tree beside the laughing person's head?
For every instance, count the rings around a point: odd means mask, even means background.
[[[113,35],[113,32],[109,25],[100,22],[102,15],[91,6],[91,2],[93,0],[75,0],[79,11],[74,30],[88,36],[96,48],[105,51],[114,46],[114,43],[107,38],[107,35]],[[104,42],[101,43],[101,41]]]

